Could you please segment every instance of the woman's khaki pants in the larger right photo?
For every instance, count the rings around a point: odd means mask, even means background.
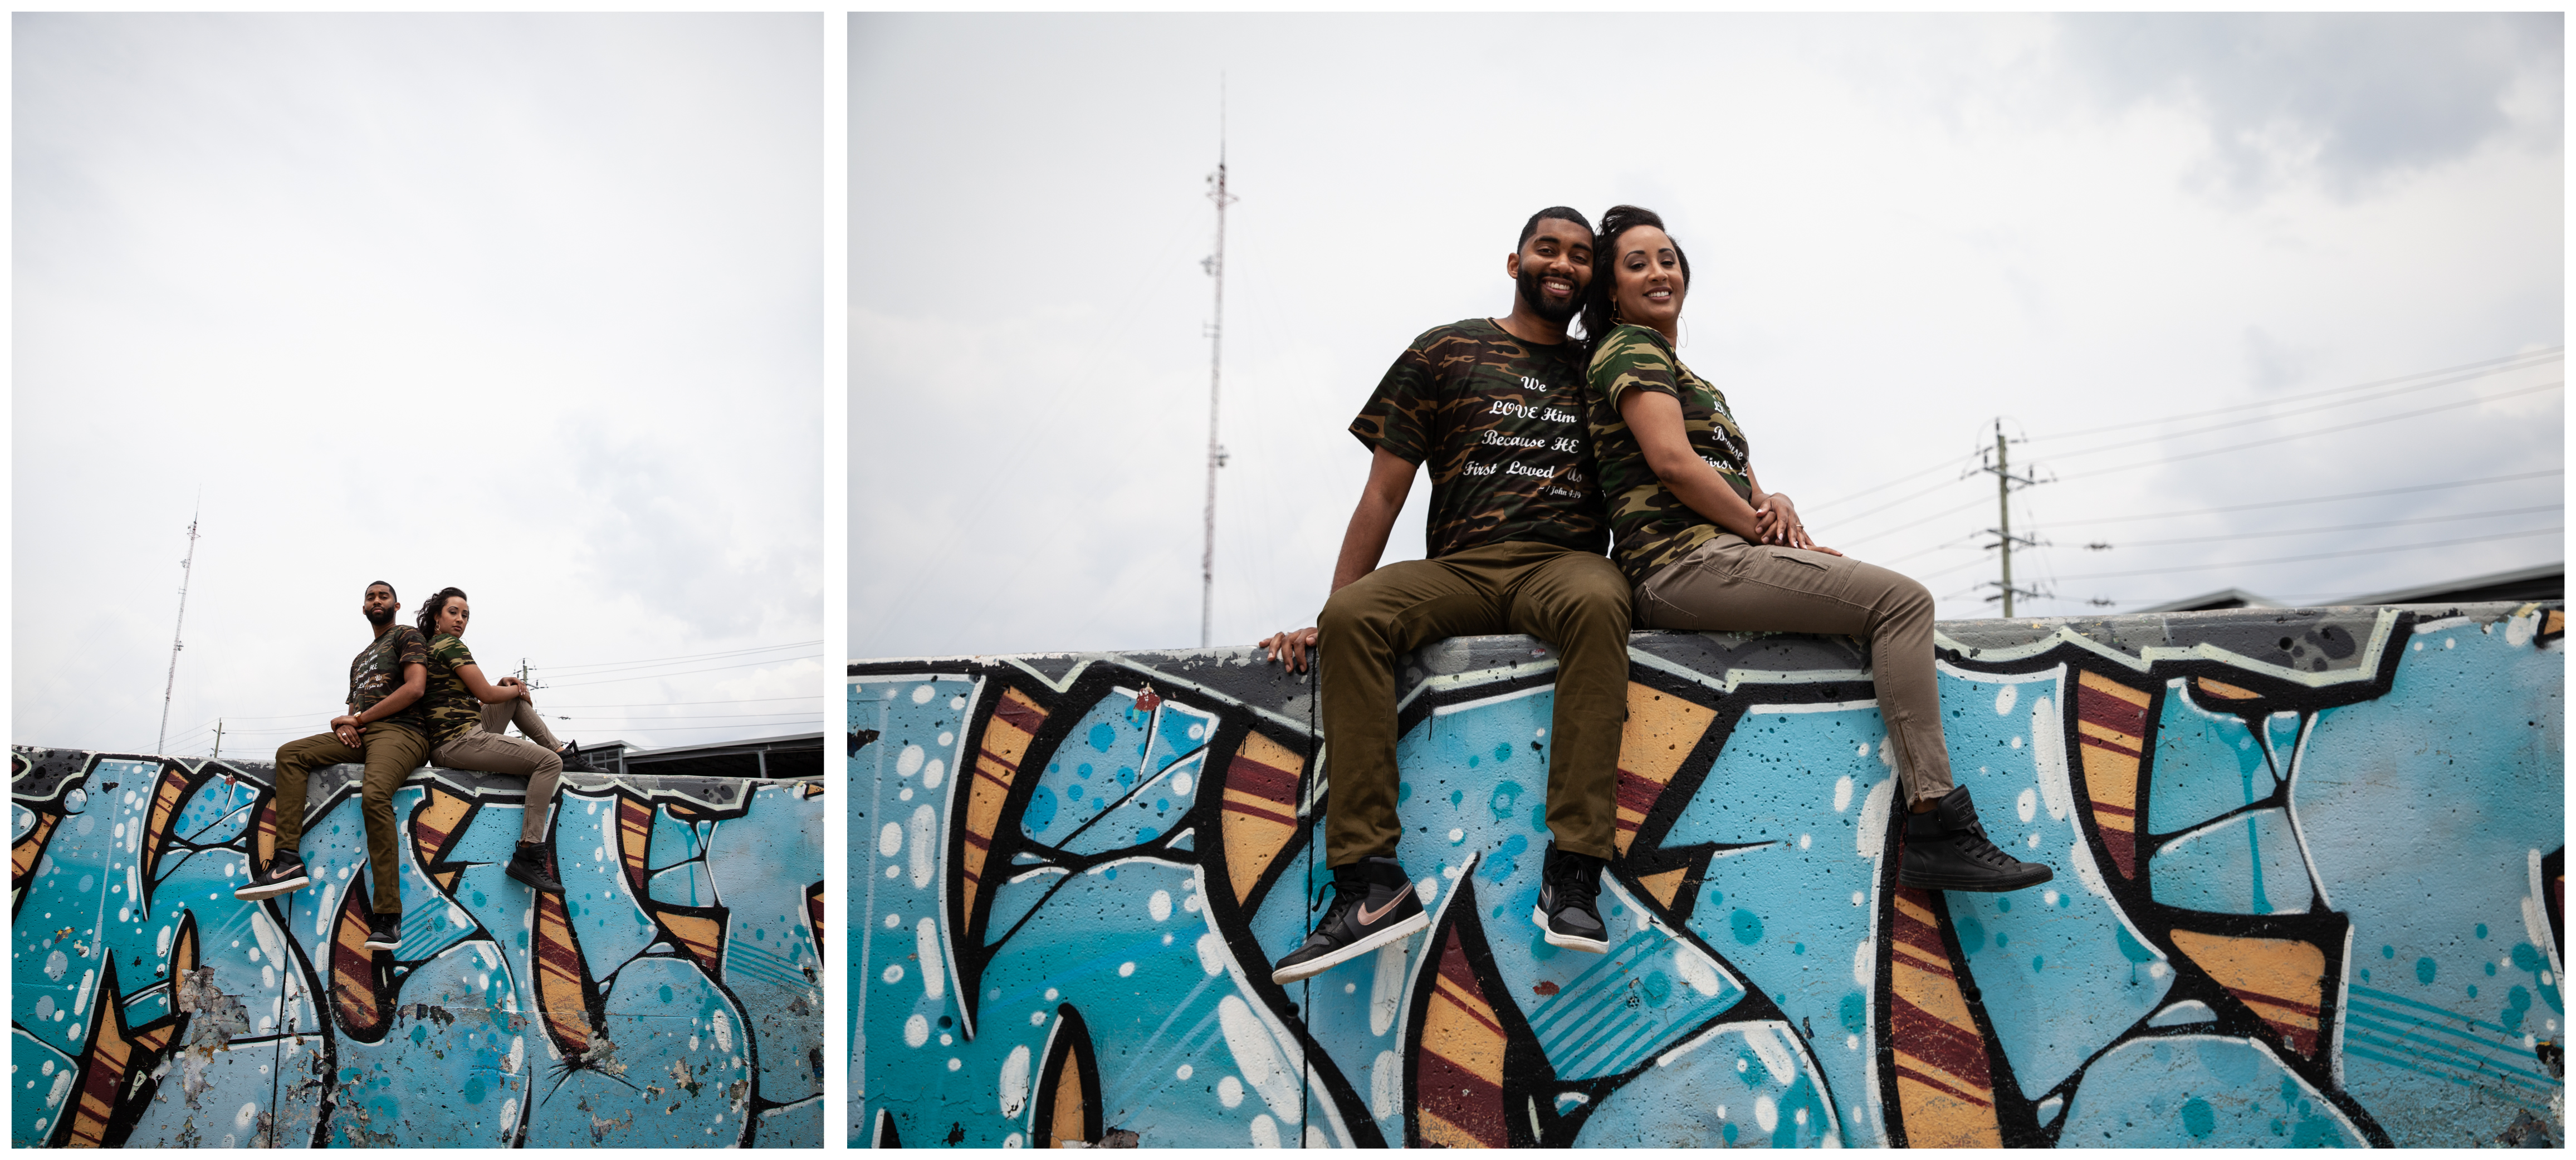
[[[1940,730],[1932,670],[1932,593],[1906,575],[1852,557],[1752,544],[1721,531],[1636,585],[1649,629],[1829,632],[1870,642],[1878,719],[1896,740],[1906,802],[1950,794],[1950,748]]]

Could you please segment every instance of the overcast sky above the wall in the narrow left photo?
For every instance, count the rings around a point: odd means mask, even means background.
[[[368,580],[569,740],[819,727],[819,15],[13,28],[13,742],[152,748],[198,503],[167,753],[322,732]]]

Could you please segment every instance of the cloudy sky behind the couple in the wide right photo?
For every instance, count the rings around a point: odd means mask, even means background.
[[[2014,474],[2056,479],[2014,500],[2053,541],[2017,557],[2056,590],[2022,614],[2563,559],[2561,41],[2561,15],[853,15],[850,652],[1198,642],[1221,75],[1218,642],[1314,621],[1368,469],[1342,428],[1412,335],[1510,309],[1551,204],[1664,214],[1698,271],[1682,358],[1762,482],[1945,619],[1994,614],[1994,479],[1960,472],[1999,418]],[[1422,554],[1425,495],[1386,559]]]

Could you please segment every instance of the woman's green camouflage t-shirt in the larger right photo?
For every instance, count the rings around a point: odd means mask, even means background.
[[[1646,451],[1636,446],[1636,433],[1618,410],[1620,394],[1631,389],[1672,394],[1682,405],[1690,449],[1716,467],[1744,503],[1752,503],[1754,487],[1744,474],[1749,464],[1744,428],[1736,428],[1736,415],[1726,410],[1726,394],[1690,374],[1664,335],[1641,325],[1610,330],[1592,351],[1584,420],[1592,428],[1602,495],[1610,498],[1610,531],[1618,536],[1613,559],[1628,583],[1643,583],[1656,567],[1687,557],[1716,536],[1718,526],[1690,510],[1646,467]]]

